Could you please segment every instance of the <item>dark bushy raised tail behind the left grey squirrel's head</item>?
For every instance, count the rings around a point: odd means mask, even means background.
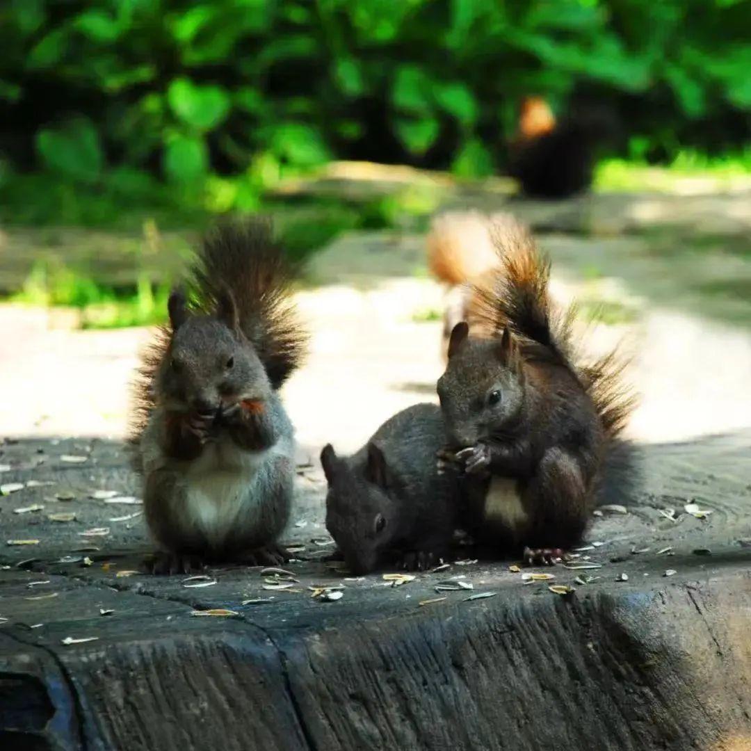
[[[192,268],[201,310],[213,311],[222,290],[231,292],[240,328],[258,352],[273,388],[300,365],[307,342],[290,300],[295,272],[264,219],[216,227],[204,238]]]

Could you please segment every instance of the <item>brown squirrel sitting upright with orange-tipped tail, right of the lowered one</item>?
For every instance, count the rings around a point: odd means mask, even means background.
[[[439,464],[460,469],[463,525],[478,543],[552,562],[581,539],[611,473],[633,471],[618,436],[634,400],[614,354],[575,361],[572,311],[553,313],[550,263],[526,228],[507,222],[495,241],[499,264],[470,316],[493,335],[469,336],[466,322],[451,332]]]

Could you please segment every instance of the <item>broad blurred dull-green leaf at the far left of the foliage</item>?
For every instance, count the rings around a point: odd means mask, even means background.
[[[80,182],[96,182],[104,163],[99,135],[86,118],[39,131],[37,150],[50,170]]]

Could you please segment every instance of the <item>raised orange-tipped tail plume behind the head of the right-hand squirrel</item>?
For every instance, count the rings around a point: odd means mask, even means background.
[[[474,285],[472,323],[496,334],[508,327],[568,364],[573,312],[561,314],[550,302],[550,260],[538,251],[529,229],[516,220],[507,218],[492,235],[499,263]]]

